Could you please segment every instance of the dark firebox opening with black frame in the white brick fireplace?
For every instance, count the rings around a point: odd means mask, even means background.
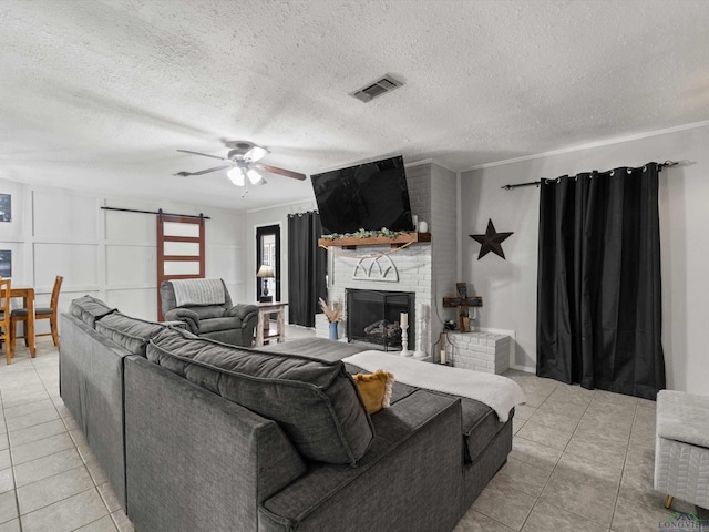
[[[401,349],[401,313],[409,314],[409,349],[415,349],[415,294],[347,288],[347,339]]]

